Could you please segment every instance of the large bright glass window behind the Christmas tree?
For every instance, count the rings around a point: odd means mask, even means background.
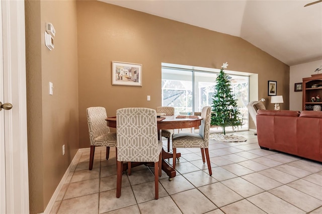
[[[219,69],[200,68],[162,64],[162,105],[173,106],[175,114],[194,114],[201,112],[204,106],[212,105],[212,96],[215,88],[215,79]],[[249,102],[249,76],[237,75],[242,72],[229,71],[232,91],[237,99],[237,108],[243,126],[238,130],[248,130],[248,110],[246,104]],[[220,129],[220,128],[219,128]],[[231,131],[235,128],[231,128]]]

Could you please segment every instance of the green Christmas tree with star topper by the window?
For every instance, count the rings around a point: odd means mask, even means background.
[[[223,69],[228,66],[225,62],[216,77],[215,93],[212,96],[211,125],[221,126],[223,134],[226,135],[225,128],[229,126],[241,126],[240,114],[237,109],[237,99],[232,93],[229,77]]]

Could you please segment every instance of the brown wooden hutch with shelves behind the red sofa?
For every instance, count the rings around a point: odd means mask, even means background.
[[[322,105],[322,74],[312,74],[303,78],[303,111],[312,111],[314,105]],[[319,100],[316,96],[319,95]],[[312,97],[314,99],[312,100]]]

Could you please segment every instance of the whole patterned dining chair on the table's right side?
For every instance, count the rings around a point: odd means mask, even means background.
[[[205,155],[207,159],[209,175],[212,175],[210,159],[209,159],[209,132],[211,121],[211,108],[205,106],[202,109],[201,125],[199,126],[199,134],[195,133],[180,133],[172,136],[172,148],[173,148],[173,168],[176,168],[176,154],[177,148],[200,148],[202,161],[205,163]]]

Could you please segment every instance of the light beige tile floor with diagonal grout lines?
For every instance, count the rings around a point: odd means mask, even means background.
[[[115,149],[106,160],[106,149],[97,148],[92,171],[89,152],[79,153],[51,213],[322,213],[322,163],[262,150],[252,132],[234,135],[248,140],[210,140],[212,176],[200,149],[177,149],[177,176],[169,181],[163,172],[158,200],[153,169],[124,173],[116,198]]]

